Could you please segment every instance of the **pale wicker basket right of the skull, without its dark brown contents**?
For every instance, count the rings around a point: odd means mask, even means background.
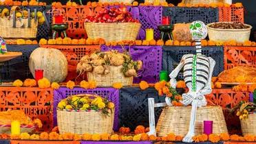
[[[218,22],[218,23],[228,23],[228,22]],[[228,41],[228,40],[235,40],[237,43],[244,43],[244,40],[249,40],[250,38],[250,29],[253,27],[250,25],[248,29],[215,29],[212,27],[209,27],[213,23],[209,23],[207,25],[208,28],[208,34],[210,40],[222,40],[222,41]]]

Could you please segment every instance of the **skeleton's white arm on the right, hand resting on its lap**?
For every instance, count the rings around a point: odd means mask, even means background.
[[[206,86],[198,92],[198,95],[209,95],[212,91],[211,89],[211,77],[213,76],[213,70],[215,67],[215,60],[213,60],[213,58],[209,57],[209,76],[208,76],[208,80],[206,83]]]

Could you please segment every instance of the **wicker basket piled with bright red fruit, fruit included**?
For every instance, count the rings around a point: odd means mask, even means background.
[[[136,40],[141,24],[135,20],[127,8],[121,6],[100,10],[98,16],[85,18],[88,38],[104,38],[106,42]]]

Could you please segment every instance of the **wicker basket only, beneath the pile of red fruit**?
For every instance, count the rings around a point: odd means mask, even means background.
[[[106,42],[136,40],[140,23],[85,23],[88,38],[104,38]]]

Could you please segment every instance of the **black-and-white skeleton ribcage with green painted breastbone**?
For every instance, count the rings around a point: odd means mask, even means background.
[[[204,55],[191,54],[185,58],[184,62],[184,82],[186,84],[191,83],[193,89],[193,77],[195,77],[195,86],[197,84],[205,86],[209,75],[209,59]]]

